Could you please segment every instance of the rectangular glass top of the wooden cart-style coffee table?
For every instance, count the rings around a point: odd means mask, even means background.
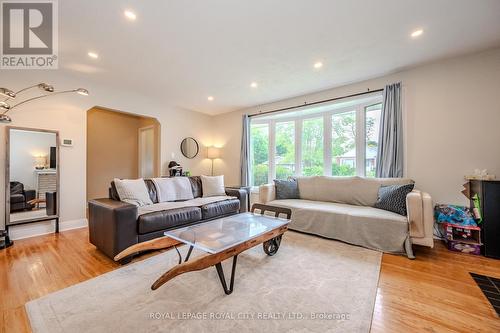
[[[288,223],[283,218],[242,213],[169,230],[164,235],[208,253],[219,253]]]

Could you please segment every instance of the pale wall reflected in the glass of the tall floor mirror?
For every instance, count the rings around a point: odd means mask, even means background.
[[[23,183],[25,189],[36,189],[35,156],[46,156],[56,146],[56,135],[46,132],[12,130],[10,133],[10,180]]]

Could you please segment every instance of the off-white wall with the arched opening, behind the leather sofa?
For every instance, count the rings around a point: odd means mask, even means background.
[[[99,86],[86,80],[85,75],[74,77],[67,71],[23,71],[1,70],[0,86],[19,90],[38,82],[53,84],[58,90],[84,87],[90,96],[64,94],[27,103],[9,112],[12,126],[58,130],[61,139],[74,140],[73,147],[61,147],[60,150],[60,186],[61,186],[61,228],[75,225],[86,217],[86,111],[94,106],[155,117],[161,124],[161,165],[162,172],[167,170],[168,161],[175,159],[193,174],[208,174],[210,161],[204,158],[203,150],[195,159],[181,157],[180,143],[184,137],[192,136],[201,145],[212,145],[212,118],[210,116],[182,110],[172,106],[155,104],[150,98],[133,92],[114,90]],[[0,142],[5,142],[5,124],[0,124]],[[174,155],[172,157],[172,155]],[[0,145],[0,174],[4,174],[5,145]],[[0,177],[0,186],[4,187],[4,178]],[[5,193],[0,191],[0,229],[4,226]],[[39,223],[40,225],[43,223]],[[49,223],[45,224],[47,230]],[[31,228],[18,226],[15,228]],[[31,230],[30,229],[30,230]],[[38,230],[38,229],[37,229]],[[22,233],[29,235],[31,231]],[[34,231],[39,233],[39,231]]]

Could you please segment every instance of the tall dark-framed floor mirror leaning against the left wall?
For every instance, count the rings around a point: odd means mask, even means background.
[[[53,220],[59,232],[59,133],[9,126],[6,226]]]

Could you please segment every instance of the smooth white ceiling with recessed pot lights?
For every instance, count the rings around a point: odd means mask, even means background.
[[[59,34],[68,74],[217,114],[500,45],[500,1],[64,0]]]

